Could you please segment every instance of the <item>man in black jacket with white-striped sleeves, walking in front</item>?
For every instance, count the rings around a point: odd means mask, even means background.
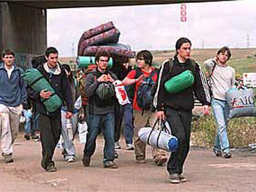
[[[191,42],[180,38],[176,42],[176,55],[173,59],[164,61],[161,66],[158,85],[154,98],[158,119],[166,119],[171,131],[179,141],[177,151],[171,153],[167,170],[171,183],[186,182],[183,177],[183,165],[189,152],[190,124],[194,108],[194,94],[203,104],[203,111],[208,114],[210,94],[207,91],[205,76],[200,66],[190,59]],[[168,93],[164,83],[180,73],[190,70],[194,75],[194,83],[178,93]]]

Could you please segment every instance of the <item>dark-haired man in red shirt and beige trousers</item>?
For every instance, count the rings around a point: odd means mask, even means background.
[[[152,67],[153,56],[151,52],[143,50],[138,52],[136,56],[137,70],[131,70],[127,77],[124,78],[122,83],[124,85],[132,85],[135,83],[134,89],[134,98],[132,106],[134,109],[134,146],[135,146],[135,158],[138,164],[146,163],[146,144],[143,143],[139,136],[140,128],[145,127],[147,124],[150,127],[153,127],[155,123],[155,112],[151,110],[151,103],[149,108],[145,109],[139,106],[138,97],[139,97],[139,88],[142,85],[143,81],[151,81],[154,85],[158,78],[158,72],[155,67]],[[161,149],[152,149],[152,155],[156,165],[162,165],[167,161],[166,152]]]

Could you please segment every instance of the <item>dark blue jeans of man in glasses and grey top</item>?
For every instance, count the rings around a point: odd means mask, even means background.
[[[105,115],[88,115],[87,142],[83,155],[91,157],[95,152],[96,138],[102,131],[105,138],[103,164],[107,161],[114,161],[114,113]]]

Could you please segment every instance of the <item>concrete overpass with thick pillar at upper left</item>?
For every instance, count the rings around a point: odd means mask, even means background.
[[[13,49],[17,52],[18,62],[25,68],[32,56],[42,54],[47,40],[46,9],[209,1],[220,0],[0,0],[0,52]]]

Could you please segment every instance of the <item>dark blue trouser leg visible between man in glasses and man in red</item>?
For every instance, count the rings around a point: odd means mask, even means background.
[[[124,138],[126,138],[126,144],[132,144],[132,138],[134,137],[134,120],[132,104],[126,104],[124,107]]]

